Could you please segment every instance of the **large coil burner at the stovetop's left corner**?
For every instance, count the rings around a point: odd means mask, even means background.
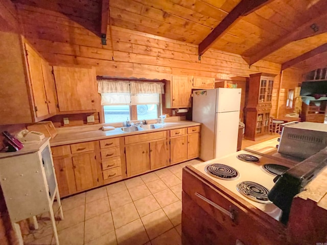
[[[222,180],[235,180],[239,178],[239,172],[235,168],[220,163],[208,164],[204,170],[209,175]]]

